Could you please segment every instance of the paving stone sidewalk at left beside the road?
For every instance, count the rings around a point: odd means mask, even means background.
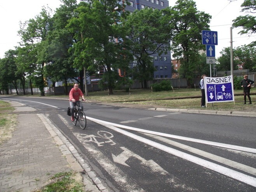
[[[18,115],[16,131],[0,148],[0,191],[33,191],[71,170],[38,115]]]

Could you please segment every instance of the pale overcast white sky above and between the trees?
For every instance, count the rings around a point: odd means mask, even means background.
[[[230,27],[232,20],[239,15],[240,5],[244,0],[194,0],[199,11],[204,11],[212,16],[210,30],[218,32],[218,45],[215,46],[216,58],[224,47],[230,47]],[[169,0],[169,6],[174,6],[176,0]],[[61,2],[59,0],[1,0],[0,1],[0,58],[9,49],[15,49],[20,41],[17,36],[19,21],[25,22],[40,13],[42,6],[49,6],[55,10]],[[233,29],[233,48],[256,41],[256,34],[239,35],[237,29]]]

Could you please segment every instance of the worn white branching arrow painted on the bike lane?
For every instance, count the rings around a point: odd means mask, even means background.
[[[151,171],[153,171],[155,173],[160,172],[161,175],[168,174],[167,171],[165,171],[163,168],[161,168],[161,166],[159,166],[152,159],[147,161],[146,159],[140,157],[139,155],[133,153],[132,151],[130,151],[129,149],[127,149],[125,147],[120,147],[120,148],[124,150],[121,154],[119,154],[117,156],[112,154],[114,162],[130,167],[128,164],[125,163],[125,161],[127,161],[130,157],[135,157],[141,161],[140,164],[149,167]]]

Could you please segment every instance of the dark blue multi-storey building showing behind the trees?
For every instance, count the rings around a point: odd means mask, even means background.
[[[133,12],[136,9],[145,9],[146,7],[152,9],[164,9],[169,6],[168,0],[130,0],[130,5],[126,5],[125,10]],[[171,63],[171,52],[167,54],[152,55],[154,61],[154,78],[171,78],[172,77],[172,63]],[[132,68],[133,66],[131,66]]]

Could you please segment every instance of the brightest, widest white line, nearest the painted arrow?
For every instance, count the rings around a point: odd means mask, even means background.
[[[143,137],[138,136],[136,134],[130,133],[128,131],[124,131],[123,129],[119,129],[117,127],[114,127],[113,123],[106,122],[106,121],[99,120],[99,119],[94,119],[94,118],[91,118],[91,117],[88,117],[88,119],[92,120],[92,121],[94,121],[98,124],[101,124],[103,126],[109,127],[110,129],[112,129],[114,131],[117,131],[121,134],[129,136],[130,138],[133,138],[133,139],[138,140],[140,142],[146,143],[147,145],[151,145],[155,148],[163,150],[163,151],[165,151],[169,154],[175,155],[177,157],[181,157],[182,159],[191,161],[195,164],[198,164],[200,166],[211,169],[211,170],[216,171],[218,173],[221,173],[223,175],[229,176],[230,178],[234,178],[234,179],[236,179],[240,182],[244,182],[244,183],[247,183],[248,185],[252,185],[253,187],[256,187],[256,178],[253,178],[252,176],[245,175],[244,173],[240,173],[240,172],[232,170],[230,168],[226,168],[226,167],[218,165],[216,163],[209,162],[209,161],[206,161],[204,159],[200,159],[199,157],[195,157],[193,155],[186,154],[186,153],[181,152],[179,150],[167,147],[167,146],[162,145],[160,143],[156,143],[154,141],[148,140],[146,138],[143,138]],[[117,124],[115,124],[115,125],[117,125]],[[121,126],[121,125],[119,125],[119,126]]]

